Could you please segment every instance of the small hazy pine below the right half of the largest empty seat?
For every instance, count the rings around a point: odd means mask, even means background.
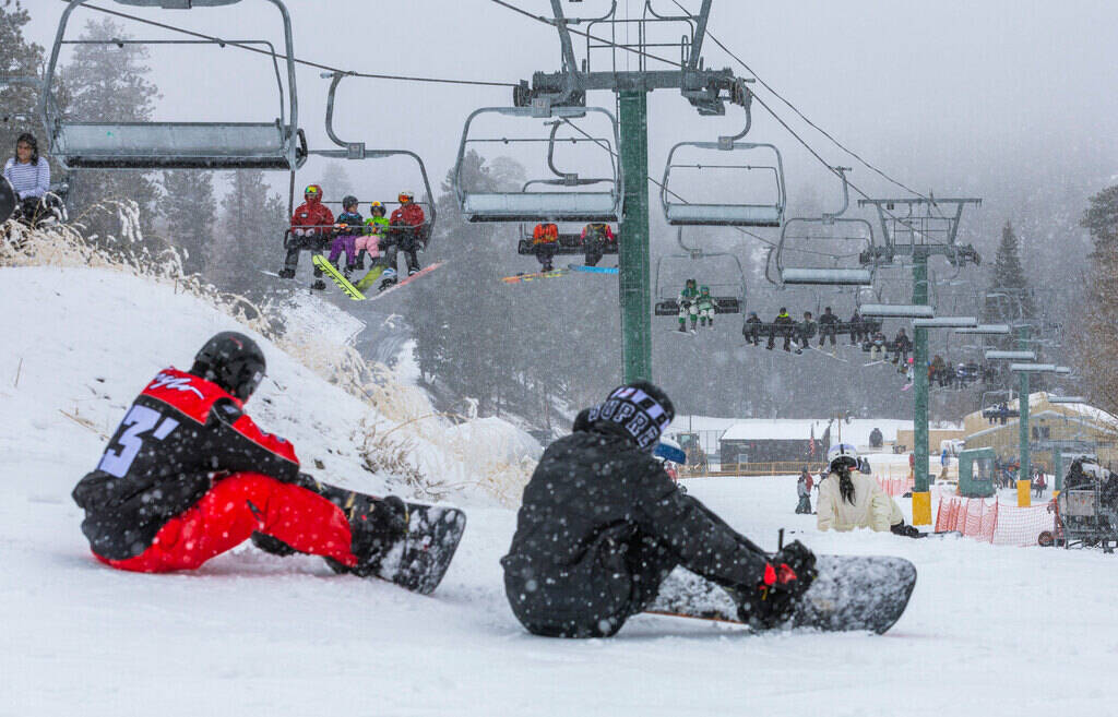
[[[217,222],[211,172],[174,170],[163,172],[163,199],[159,213],[167,222],[168,243],[183,250],[183,269],[200,274],[214,243]]]

